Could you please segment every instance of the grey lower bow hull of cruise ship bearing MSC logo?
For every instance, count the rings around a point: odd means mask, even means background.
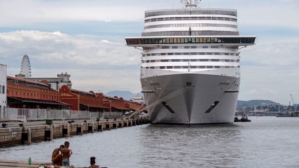
[[[186,86],[187,82],[190,85],[189,88]],[[147,107],[152,123],[204,125],[234,122],[238,90],[237,88],[228,90],[219,84],[230,83],[230,85],[238,86],[239,78],[184,72],[146,77],[141,79],[141,83],[158,84],[157,88],[151,90],[152,92],[143,90],[146,104],[157,103],[152,107]],[[178,92],[180,89],[182,91]],[[169,99],[165,98],[168,96]],[[161,100],[163,98],[165,98],[164,101]]]

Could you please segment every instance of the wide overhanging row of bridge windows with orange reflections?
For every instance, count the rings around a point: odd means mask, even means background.
[[[126,39],[130,44],[169,44],[169,43],[254,43],[255,38],[155,38],[155,39]]]

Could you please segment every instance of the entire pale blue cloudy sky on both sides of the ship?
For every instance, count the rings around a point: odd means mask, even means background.
[[[201,0],[201,8],[238,12],[240,35],[257,36],[241,49],[238,100],[299,104],[299,1]],[[0,1],[0,64],[20,73],[28,54],[33,78],[71,75],[72,88],[141,91],[140,50],[125,37],[141,36],[144,11],[182,8],[181,0]]]

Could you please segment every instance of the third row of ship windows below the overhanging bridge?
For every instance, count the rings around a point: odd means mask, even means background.
[[[171,60],[146,60],[141,63],[150,62],[240,62],[240,60],[229,60],[229,59],[171,59]]]

